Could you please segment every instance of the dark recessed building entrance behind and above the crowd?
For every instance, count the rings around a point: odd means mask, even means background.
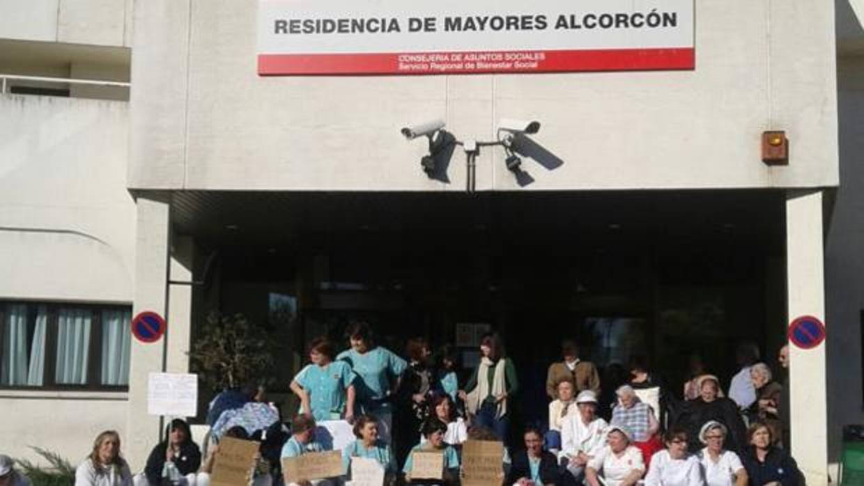
[[[460,345],[465,373],[476,332],[499,331],[521,383],[514,429],[545,420],[546,369],[565,338],[607,388],[638,355],[676,393],[690,355],[727,383],[735,344],[773,355],[783,341],[779,193],[221,197],[218,214],[175,218],[215,255],[195,312],[289,326],[277,392],[309,340],[347,346],[356,319],[400,354],[416,336]]]

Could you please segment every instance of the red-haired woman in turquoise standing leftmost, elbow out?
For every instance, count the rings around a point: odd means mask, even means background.
[[[309,345],[309,361],[291,381],[291,391],[300,397],[300,412],[315,420],[351,421],[354,416],[354,375],[344,361],[334,361],[333,344],[317,338]]]

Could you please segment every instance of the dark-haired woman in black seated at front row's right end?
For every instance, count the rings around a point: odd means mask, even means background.
[[[753,486],[800,486],[804,476],[789,452],[772,445],[771,428],[755,422],[747,429],[744,468]]]

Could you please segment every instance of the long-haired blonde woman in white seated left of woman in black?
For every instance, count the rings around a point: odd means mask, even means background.
[[[109,430],[96,436],[90,455],[75,470],[75,486],[132,486],[117,432]]]

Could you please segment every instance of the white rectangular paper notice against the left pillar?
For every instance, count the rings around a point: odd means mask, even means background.
[[[198,375],[150,373],[147,381],[147,413],[169,417],[198,414]]]

